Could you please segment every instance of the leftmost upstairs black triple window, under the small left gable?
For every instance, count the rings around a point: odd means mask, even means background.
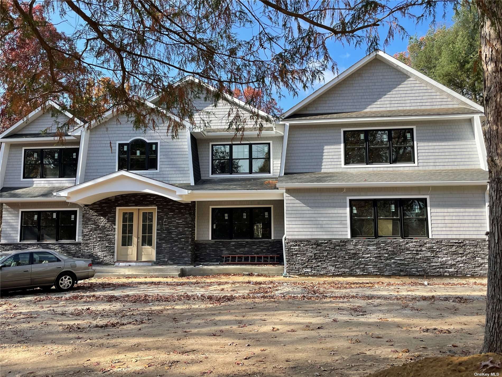
[[[75,178],[78,148],[25,149],[23,178]]]

